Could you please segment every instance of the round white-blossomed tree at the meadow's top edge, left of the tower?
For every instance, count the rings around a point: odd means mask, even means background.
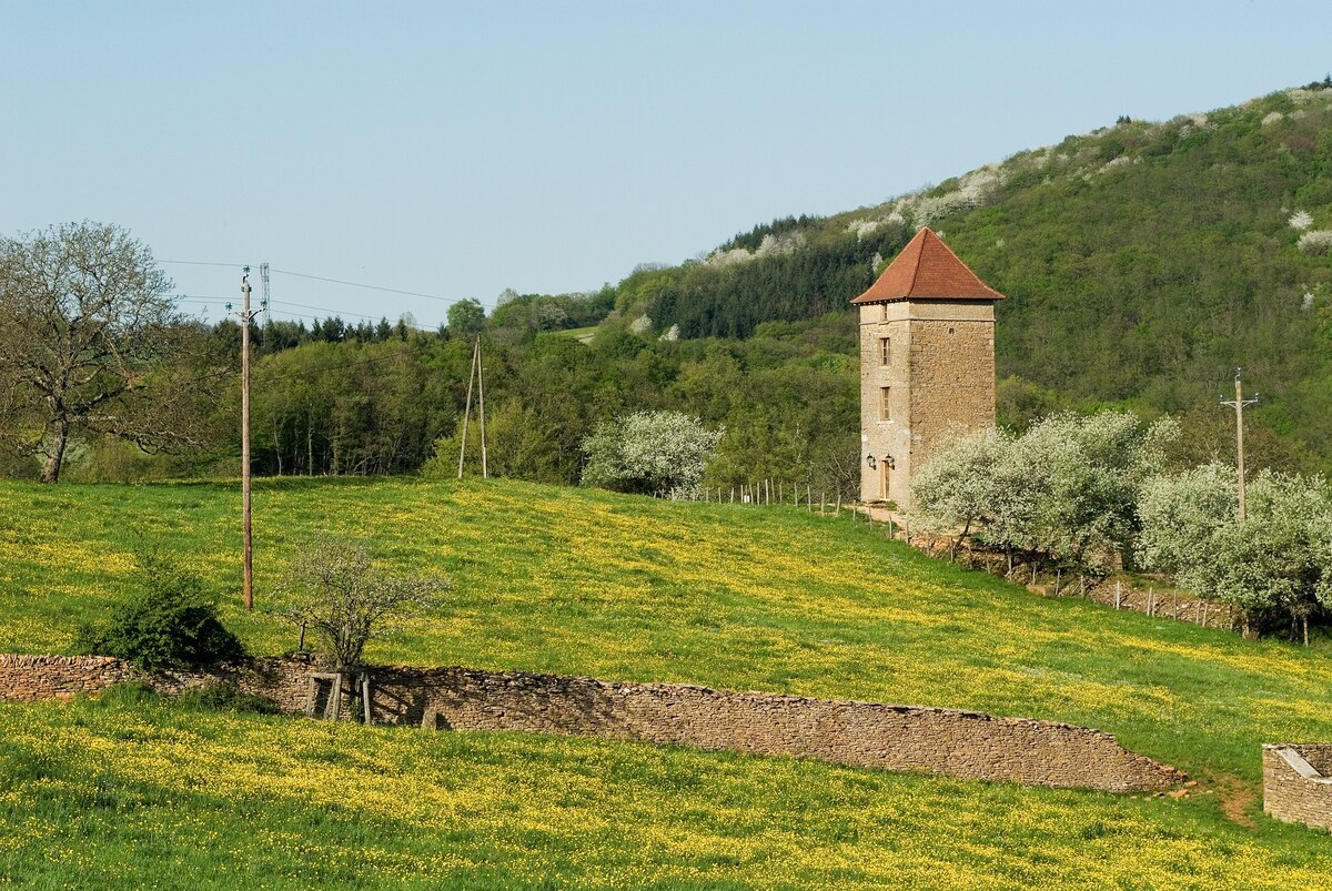
[[[659,497],[693,493],[722,433],[679,412],[638,412],[598,424],[582,444],[582,482]]]

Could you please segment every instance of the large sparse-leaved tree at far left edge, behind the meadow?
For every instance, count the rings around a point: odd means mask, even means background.
[[[76,222],[0,238],[0,437],[56,482],[71,437],[194,445],[169,382],[190,328],[170,280],[128,232]]]

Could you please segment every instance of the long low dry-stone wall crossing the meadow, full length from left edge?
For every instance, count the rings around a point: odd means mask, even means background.
[[[0,657],[0,698],[96,693],[136,677],[115,659]],[[25,670],[17,670],[21,661]],[[113,667],[119,666],[119,667]],[[159,690],[232,681],[282,711],[306,707],[309,657],[256,659],[210,674],[149,678]],[[49,675],[48,681],[37,677]],[[924,771],[1032,786],[1150,791],[1185,776],[1124,750],[1110,734],[1070,725],[994,718],[955,709],[729,693],[699,686],[617,683],[593,678],[473,669],[374,669],[376,723],[438,730],[523,730],[671,743],[709,750],[817,758],[855,767]],[[5,697],[17,682],[21,697]],[[75,683],[79,683],[75,689]],[[100,686],[97,686],[100,685]],[[318,689],[322,710],[329,686]],[[350,706],[350,693],[344,693]],[[350,715],[353,709],[345,707]]]

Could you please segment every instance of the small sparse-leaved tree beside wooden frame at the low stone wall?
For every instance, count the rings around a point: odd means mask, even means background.
[[[329,649],[336,671],[361,663],[372,639],[396,631],[421,610],[442,603],[448,579],[397,575],[374,566],[369,551],[325,538],[305,549],[282,586],[281,618],[312,629]]]

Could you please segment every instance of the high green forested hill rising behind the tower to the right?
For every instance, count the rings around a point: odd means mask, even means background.
[[[1261,421],[1325,462],[1332,81],[1124,117],[878,206],[758,226],[706,260],[635,272],[617,305],[683,337],[746,336],[843,308],[920,225],[1010,297],[1007,398],[1189,412],[1244,366]]]

